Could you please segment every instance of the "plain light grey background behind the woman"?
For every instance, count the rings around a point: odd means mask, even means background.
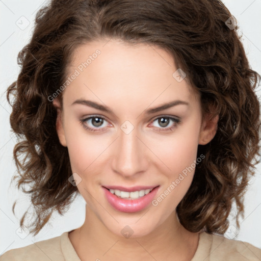
[[[13,157],[13,147],[16,143],[15,136],[10,132],[9,115],[11,108],[6,100],[6,88],[16,80],[19,72],[17,65],[17,55],[19,50],[27,44],[32,35],[32,28],[37,10],[47,1],[7,1],[0,0],[0,115],[1,115],[1,135],[0,135],[0,255],[7,250],[33,244],[40,240],[45,240],[60,236],[64,231],[80,227],[85,219],[85,201],[82,196],[76,198],[69,211],[64,217],[54,215],[41,232],[32,237],[16,233],[19,231],[19,220],[27,210],[29,198],[10,186],[11,177],[15,174],[16,168]],[[234,17],[237,18],[240,30],[243,34],[242,40],[247,51],[251,67],[261,74],[261,0],[225,0]],[[24,16],[24,17],[22,17]],[[27,23],[30,23],[27,28]],[[261,92],[258,88],[258,96]],[[10,186],[10,187],[9,187]],[[234,239],[246,241],[256,247],[261,248],[261,176],[260,164],[257,166],[256,177],[250,182],[245,197],[245,219],[241,220],[241,229]],[[17,201],[16,214],[12,213],[12,204]],[[233,224],[233,222],[231,223]],[[225,234],[231,237],[231,234]]]

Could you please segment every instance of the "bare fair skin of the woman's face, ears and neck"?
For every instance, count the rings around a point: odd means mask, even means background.
[[[213,139],[218,117],[202,119],[195,91],[186,79],[174,79],[175,62],[158,46],[112,39],[84,44],[75,49],[68,73],[96,49],[101,54],[63,91],[63,107],[54,100],[57,133],[68,147],[72,172],[82,179],[77,188],[86,201],[85,222],[69,233],[69,239],[81,260],[191,260],[199,234],[179,223],[175,208],[188,191],[194,170],[157,206],[149,204],[136,213],[115,210],[101,186],[160,185],[158,198],[196,160],[198,144]],[[77,99],[106,105],[114,114],[72,105]],[[189,105],[144,113],[173,100]],[[84,123],[96,132],[80,123],[93,115],[106,118],[101,127],[91,120]],[[164,131],[160,119],[165,115],[180,122],[169,120],[167,127],[173,128]],[[134,127],[129,134],[120,128],[126,120]],[[126,225],[133,230],[130,238],[121,234]]]

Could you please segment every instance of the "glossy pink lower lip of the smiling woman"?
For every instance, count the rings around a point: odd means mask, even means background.
[[[158,192],[160,186],[154,188],[147,195],[137,198],[137,199],[123,199],[119,198],[116,195],[112,194],[108,189],[102,187],[105,192],[105,196],[109,203],[118,211],[121,212],[138,212],[143,210],[154,198],[156,193]]]

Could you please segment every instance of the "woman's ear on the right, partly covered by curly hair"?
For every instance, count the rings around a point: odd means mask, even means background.
[[[211,113],[207,113],[202,120],[200,134],[198,139],[199,145],[205,145],[210,142],[217,133],[219,116],[215,117]]]

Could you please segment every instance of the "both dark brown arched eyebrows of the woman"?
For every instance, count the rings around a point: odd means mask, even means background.
[[[107,107],[105,105],[103,106],[95,101],[85,100],[85,99],[76,99],[74,102],[72,102],[71,105],[75,105],[75,104],[89,106],[89,107],[95,108],[95,109],[103,111],[103,112],[108,112],[108,113],[114,114],[114,112],[109,107]],[[170,101],[170,102],[164,103],[163,105],[161,105],[159,107],[154,107],[154,108],[146,110],[145,114],[152,114],[152,113],[160,112],[160,111],[169,109],[169,108],[177,106],[177,105],[187,105],[188,106],[189,102],[184,101],[184,100]]]

